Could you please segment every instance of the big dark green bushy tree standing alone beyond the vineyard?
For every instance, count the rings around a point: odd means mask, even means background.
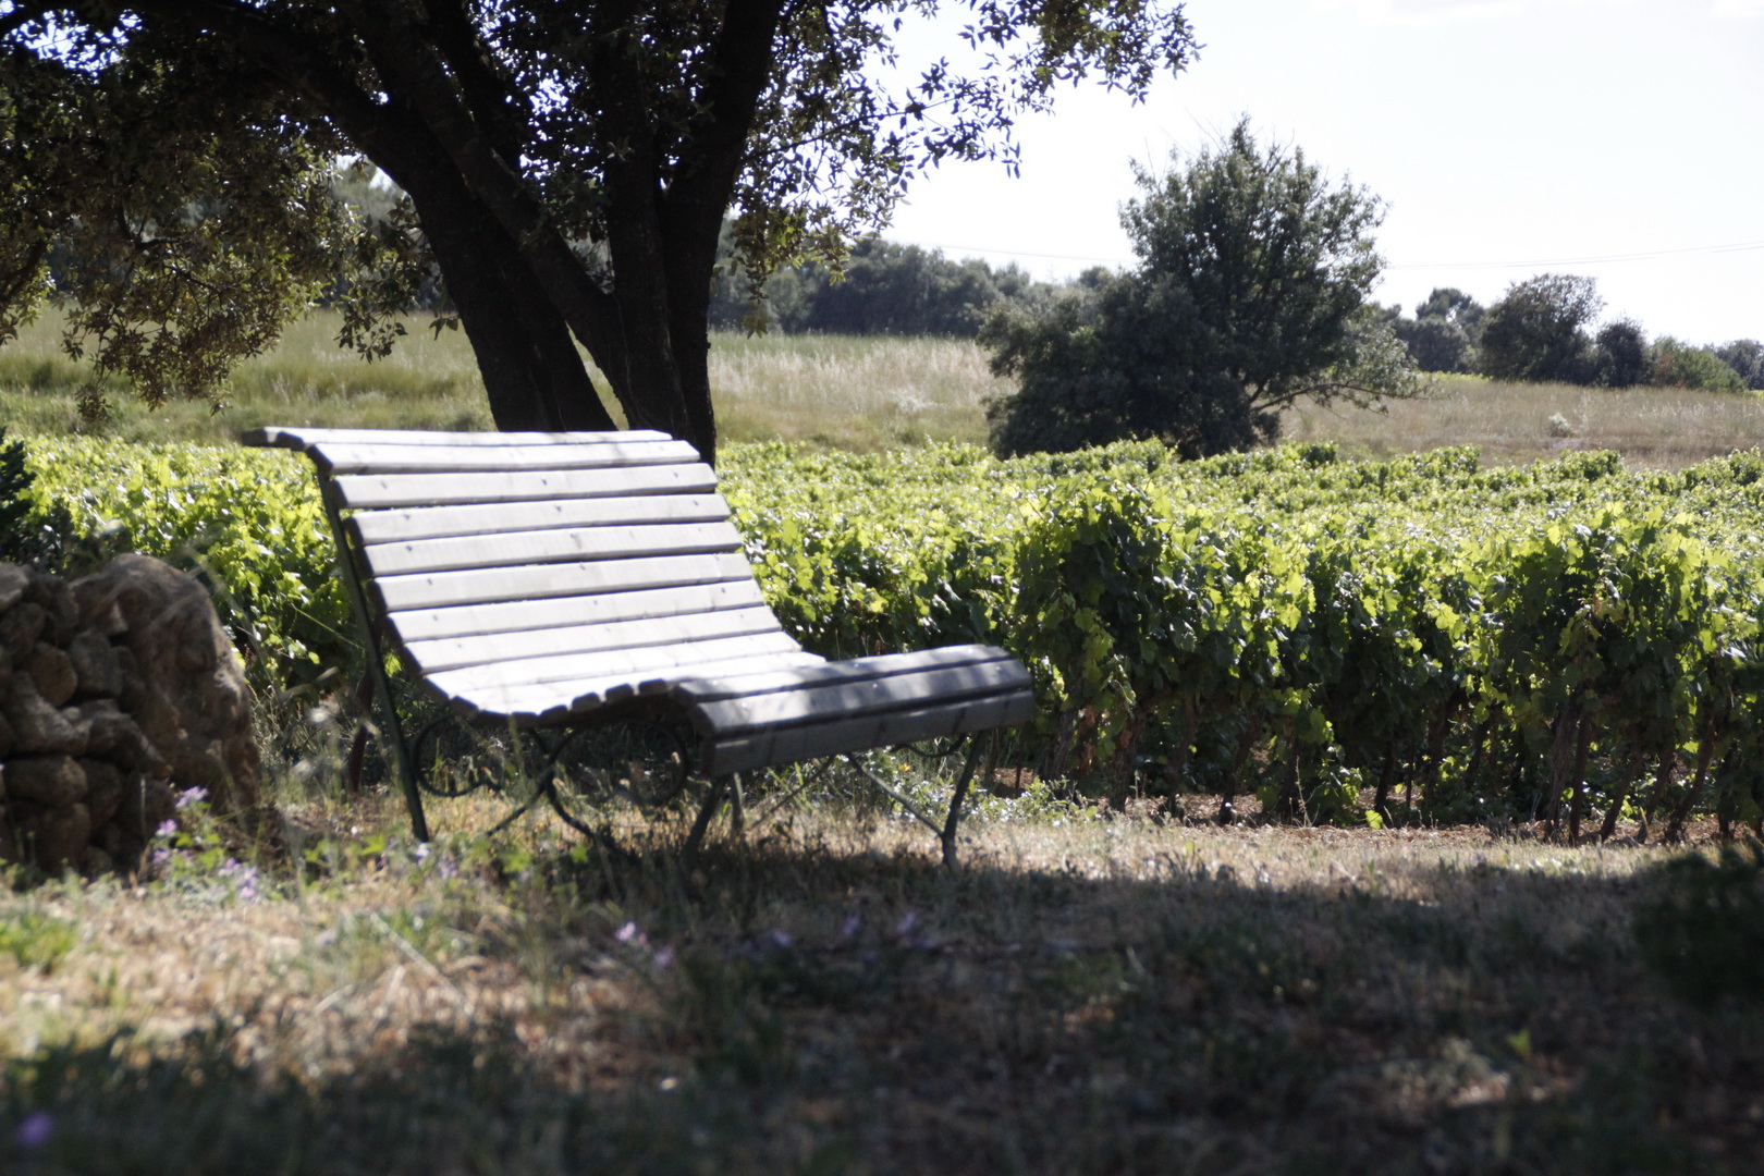
[[[1016,395],[988,413],[1002,455],[1159,439],[1184,457],[1279,432],[1298,398],[1413,395],[1413,367],[1367,293],[1383,206],[1304,152],[1238,123],[1168,176],[1140,171],[1122,222],[1140,268],[1095,277],[981,342]]]

